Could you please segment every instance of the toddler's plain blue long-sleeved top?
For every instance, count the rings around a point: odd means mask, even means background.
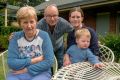
[[[89,48],[78,48],[77,45],[72,45],[66,52],[70,56],[72,63],[83,62],[88,60],[91,64],[99,63],[99,60]]]

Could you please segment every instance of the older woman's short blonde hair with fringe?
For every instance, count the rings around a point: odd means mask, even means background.
[[[26,18],[30,18],[30,17],[35,17],[36,21],[37,21],[37,14],[36,14],[36,10],[31,7],[31,6],[24,6],[21,7],[18,11],[17,11],[17,21],[20,24],[20,20],[21,19],[26,19]]]

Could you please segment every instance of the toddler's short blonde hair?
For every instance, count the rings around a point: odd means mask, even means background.
[[[88,38],[91,38],[91,34],[90,34],[89,30],[86,29],[86,28],[78,29],[78,30],[75,32],[75,37],[76,37],[76,39],[79,39],[81,36],[86,36],[86,37],[88,37]]]

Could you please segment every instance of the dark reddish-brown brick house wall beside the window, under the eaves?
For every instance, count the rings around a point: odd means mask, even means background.
[[[96,25],[97,14],[99,14],[99,13],[101,13],[101,12],[95,13],[95,12],[91,12],[91,10],[90,10],[90,12],[89,11],[84,11],[84,14],[85,14],[84,23],[86,25],[92,27],[95,31],[96,31],[96,27],[97,27],[97,25]],[[60,16],[69,21],[68,14],[69,14],[69,11],[60,12]],[[110,18],[109,19],[110,19],[109,20],[110,22],[109,22],[109,30],[108,31],[115,33],[116,32],[116,14],[115,13],[110,13]]]

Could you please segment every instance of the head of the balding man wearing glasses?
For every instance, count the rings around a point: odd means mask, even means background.
[[[57,7],[50,5],[44,11],[44,18],[49,26],[55,26],[58,21],[58,9]]]

